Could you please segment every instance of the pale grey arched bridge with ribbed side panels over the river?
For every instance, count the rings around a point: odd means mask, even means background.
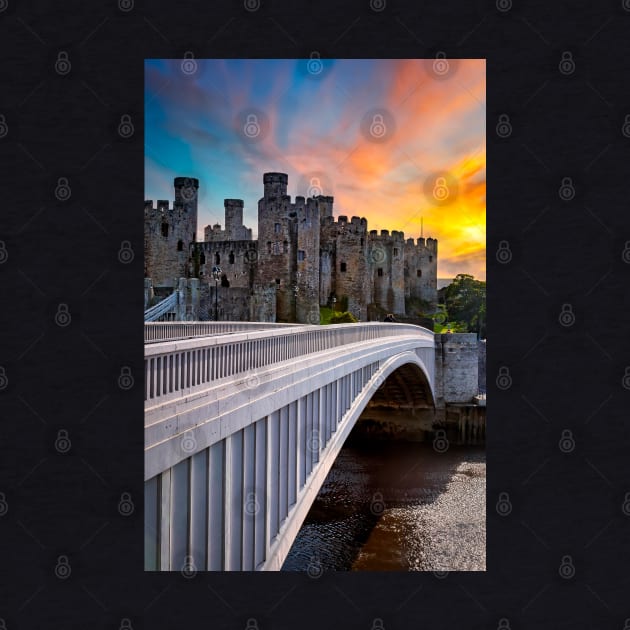
[[[146,323],[145,569],[280,569],[371,399],[435,406],[434,355],[409,324]]]

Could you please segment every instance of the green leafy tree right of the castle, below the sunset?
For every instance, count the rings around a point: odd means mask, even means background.
[[[449,320],[470,332],[486,336],[486,283],[467,273],[458,274],[446,287],[444,302]]]

